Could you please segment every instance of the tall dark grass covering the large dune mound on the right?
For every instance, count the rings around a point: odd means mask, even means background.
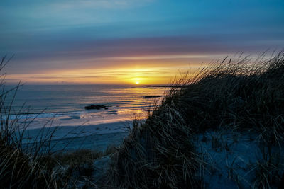
[[[114,154],[109,185],[120,188],[206,188],[207,163],[193,139],[210,130],[257,136],[263,157],[251,188],[280,183],[275,160],[284,137],[284,53],[270,59],[224,59],[175,82],[145,123],[135,125]],[[192,76],[193,75],[193,76]],[[175,86],[182,86],[180,90]],[[215,141],[215,144],[221,143]],[[276,150],[277,151],[277,150]],[[279,151],[279,150],[278,150]],[[283,154],[276,154],[283,159]],[[210,187],[208,187],[210,188]]]

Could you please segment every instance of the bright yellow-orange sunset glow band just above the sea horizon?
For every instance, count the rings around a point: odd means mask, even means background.
[[[200,64],[168,64],[153,65],[136,64],[124,67],[58,69],[38,74],[11,74],[6,81],[17,83],[19,80],[27,84],[170,84],[176,76],[194,71]]]

